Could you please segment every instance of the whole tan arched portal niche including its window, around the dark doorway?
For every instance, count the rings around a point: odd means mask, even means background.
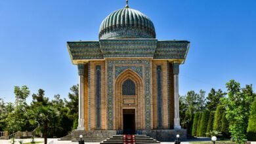
[[[133,88],[135,92],[123,90]],[[135,111],[135,129],[145,128],[144,83],[142,78],[131,69],[121,73],[114,84],[114,130],[123,130],[123,111]],[[126,112],[125,112],[126,113]]]

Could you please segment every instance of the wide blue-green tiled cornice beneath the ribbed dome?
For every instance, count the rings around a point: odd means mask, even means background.
[[[68,42],[68,52],[74,64],[119,58],[149,58],[184,63],[189,46],[189,41],[100,39],[99,41]]]

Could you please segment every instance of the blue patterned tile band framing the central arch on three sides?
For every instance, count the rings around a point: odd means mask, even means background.
[[[119,64],[140,64],[144,65],[144,98],[145,98],[145,123],[146,129],[151,128],[151,65],[150,60],[106,60],[107,63],[107,79],[108,79],[108,130],[113,130],[113,93],[114,93],[114,79],[115,79],[115,65]]]

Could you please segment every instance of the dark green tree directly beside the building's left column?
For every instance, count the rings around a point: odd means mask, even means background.
[[[70,90],[71,92],[68,93],[68,98],[70,99],[70,101],[66,99],[64,99],[64,101],[66,103],[66,107],[68,107],[69,109],[68,117],[73,121],[72,129],[75,130],[78,126],[78,98],[79,98],[78,84],[72,86]]]

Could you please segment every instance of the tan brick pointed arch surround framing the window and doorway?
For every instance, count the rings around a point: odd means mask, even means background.
[[[135,83],[135,99],[134,105],[124,105],[122,94],[122,84],[127,80]],[[145,128],[144,115],[144,82],[142,78],[132,69],[126,69],[117,77],[114,82],[114,130],[123,130],[123,109],[135,109],[136,129],[142,130]]]

